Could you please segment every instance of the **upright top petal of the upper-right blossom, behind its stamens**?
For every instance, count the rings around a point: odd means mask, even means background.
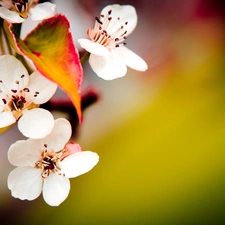
[[[126,35],[132,33],[137,25],[137,14],[135,8],[131,5],[108,5],[102,10],[101,15],[108,15],[109,10],[112,10],[110,14],[110,17],[112,17],[112,19],[107,26],[107,33],[111,35],[115,31],[120,29],[121,26],[124,26],[124,28],[121,29],[121,34],[124,33],[125,30],[127,30]],[[120,19],[118,20],[118,18]],[[101,19],[101,21],[103,20]],[[125,24],[126,22],[128,23]],[[103,27],[103,29],[105,28]]]

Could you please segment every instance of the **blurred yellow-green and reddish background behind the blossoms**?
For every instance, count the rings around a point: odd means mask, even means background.
[[[133,5],[139,20],[127,44],[149,69],[104,81],[83,65],[82,90],[99,100],[74,141],[100,161],[70,180],[59,207],[11,197],[7,150],[21,136],[16,127],[1,135],[0,224],[225,224],[225,2],[54,2],[76,43],[103,7]]]

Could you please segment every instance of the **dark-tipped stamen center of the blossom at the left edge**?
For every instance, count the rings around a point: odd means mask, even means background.
[[[11,111],[13,116],[16,119],[19,119],[22,115],[22,111],[24,109],[32,109],[36,108],[39,105],[33,103],[33,99],[31,99],[31,95],[29,97],[27,94],[30,92],[29,88],[23,88],[20,90],[19,85],[23,82],[23,78],[25,76],[22,75],[21,80],[16,80],[15,83],[17,85],[16,89],[9,90],[2,80],[0,80],[0,97],[2,97],[2,102],[4,103],[3,111]],[[34,92],[33,98],[37,97],[39,92]]]

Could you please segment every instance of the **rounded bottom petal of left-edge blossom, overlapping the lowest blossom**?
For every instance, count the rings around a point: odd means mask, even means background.
[[[54,126],[52,114],[40,108],[25,110],[18,121],[20,132],[29,138],[43,138],[47,136]]]

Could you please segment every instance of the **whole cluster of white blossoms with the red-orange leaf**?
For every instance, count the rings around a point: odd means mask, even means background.
[[[0,0],[0,17],[0,129],[2,133],[17,123],[27,138],[8,150],[9,162],[16,167],[8,176],[8,188],[21,200],[34,200],[42,192],[47,204],[58,206],[69,194],[69,178],[90,171],[99,161],[97,153],[82,151],[71,142],[73,124],[65,118],[55,119],[42,107],[59,87],[82,121],[83,60],[69,21],[56,13],[55,4]],[[17,25],[28,17],[40,23],[22,40]],[[94,28],[88,28],[89,39],[78,40],[100,78],[123,77],[127,67],[147,70],[146,62],[126,47],[136,25],[133,6],[109,5],[95,18]]]

